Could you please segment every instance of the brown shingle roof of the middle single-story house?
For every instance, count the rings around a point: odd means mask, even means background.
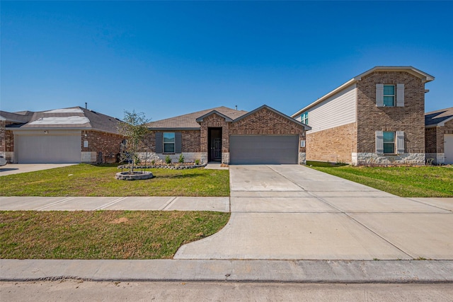
[[[225,115],[231,120],[235,120],[236,118],[245,115],[247,112],[243,110],[235,110],[231,108],[226,108],[224,106],[201,110],[193,113],[189,113],[187,115],[179,115],[178,117],[170,117],[165,120],[159,120],[156,122],[149,122],[147,126],[150,129],[200,129],[200,124],[197,123],[197,118],[206,115],[212,111],[217,111],[222,115]]]

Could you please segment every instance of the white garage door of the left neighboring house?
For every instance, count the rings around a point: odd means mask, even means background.
[[[15,135],[18,163],[80,163],[81,136],[78,135]]]

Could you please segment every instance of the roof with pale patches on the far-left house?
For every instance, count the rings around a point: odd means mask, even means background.
[[[8,112],[10,113],[10,112]],[[13,113],[18,115],[18,113]],[[62,108],[40,112],[30,112],[28,120],[15,129],[90,129],[117,134],[115,117],[81,107]],[[3,112],[2,115],[3,116]],[[8,126],[7,126],[8,127]],[[13,128],[13,127],[11,127]]]

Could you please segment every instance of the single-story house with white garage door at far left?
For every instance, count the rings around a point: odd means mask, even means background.
[[[81,107],[0,117],[0,152],[11,163],[115,162],[124,139],[115,117]]]

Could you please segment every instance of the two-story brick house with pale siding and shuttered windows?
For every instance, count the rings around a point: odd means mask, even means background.
[[[376,66],[292,115],[308,124],[306,159],[425,164],[425,83],[412,66]]]

